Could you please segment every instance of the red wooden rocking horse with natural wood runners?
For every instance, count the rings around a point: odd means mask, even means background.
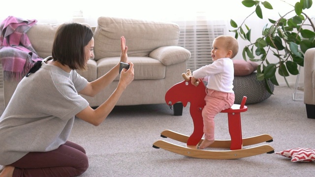
[[[186,136],[171,130],[164,130],[161,132],[161,137],[171,138],[186,143],[187,146],[183,147],[163,140],[158,140],[153,144],[154,148],[163,148],[189,157],[206,159],[236,159],[274,152],[274,148],[270,145],[243,148],[243,146],[273,141],[272,137],[268,134],[242,138],[241,112],[247,111],[247,106],[245,106],[246,96],[243,97],[240,105],[234,104],[231,108],[221,111],[221,113],[227,113],[231,140],[215,140],[215,142],[209,146],[209,148],[230,148],[230,150],[198,149],[198,145],[203,141],[202,109],[206,105],[204,100],[206,96],[205,86],[203,82],[196,83],[196,86],[191,84],[191,72],[189,69],[187,70],[187,73],[183,73],[182,75],[185,80],[175,84],[166,92],[165,101],[169,106],[172,106],[177,102],[182,102],[184,107],[190,102],[189,112],[193,121],[193,132],[190,136]]]

